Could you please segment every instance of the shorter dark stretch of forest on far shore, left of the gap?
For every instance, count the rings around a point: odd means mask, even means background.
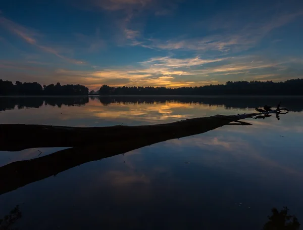
[[[37,82],[4,81],[0,79],[0,95],[88,95],[88,88],[80,84],[61,85],[59,82],[40,85]]]

